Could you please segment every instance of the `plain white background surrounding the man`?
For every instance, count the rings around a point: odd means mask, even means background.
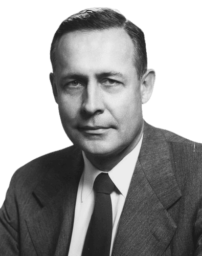
[[[4,1],[0,206],[18,167],[72,144],[52,95],[49,52],[62,20],[90,7],[118,9],[145,33],[156,81],[144,119],[202,142],[201,1]]]

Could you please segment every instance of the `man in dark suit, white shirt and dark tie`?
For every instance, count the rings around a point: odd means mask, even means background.
[[[59,26],[51,62],[74,146],[15,172],[1,255],[200,255],[202,148],[143,120],[155,72],[142,30],[117,10],[84,10]]]

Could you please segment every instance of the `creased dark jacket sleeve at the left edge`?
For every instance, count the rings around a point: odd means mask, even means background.
[[[18,214],[12,187],[0,209],[0,255],[19,255]]]

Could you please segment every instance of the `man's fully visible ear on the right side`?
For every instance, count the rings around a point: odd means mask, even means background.
[[[142,104],[149,101],[151,94],[153,92],[153,86],[155,82],[155,71],[153,69],[148,69],[143,75],[140,84]]]

